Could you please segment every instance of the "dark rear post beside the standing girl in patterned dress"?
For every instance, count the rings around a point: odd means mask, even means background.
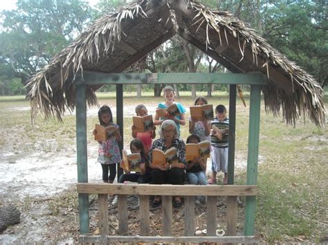
[[[116,84],[116,122],[120,126],[120,135],[122,140],[118,142],[120,147],[120,155],[122,157],[122,149],[124,147],[124,135],[123,135],[123,84]],[[117,167],[118,179],[122,175],[123,170],[120,166]]]

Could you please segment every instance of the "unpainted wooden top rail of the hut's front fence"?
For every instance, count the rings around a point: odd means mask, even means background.
[[[257,186],[78,183],[78,193],[164,196],[255,196],[257,195]]]

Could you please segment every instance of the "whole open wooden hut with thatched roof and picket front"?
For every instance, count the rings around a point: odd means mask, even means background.
[[[122,73],[136,61],[179,35],[228,70],[230,74],[133,74]],[[120,186],[88,184],[86,157],[86,103],[97,105],[95,90],[103,84],[116,84],[117,121],[123,124],[122,84],[230,84],[230,133],[228,184],[230,186]],[[250,126],[248,139],[247,185],[233,186],[235,158],[235,91],[236,84],[250,84]],[[289,61],[262,37],[228,12],[212,11],[194,1],[138,0],[116,14],[95,21],[51,63],[30,78],[28,98],[32,111],[41,110],[46,117],[61,120],[66,109],[76,107],[78,192],[81,242],[250,242],[254,234],[257,157],[259,145],[259,110],[261,91],[267,112],[282,110],[286,122],[307,113],[317,126],[325,125],[323,90],[311,75]],[[121,126],[122,128],[122,126]],[[122,147],[122,145],[121,145]],[[163,195],[163,235],[149,235],[149,199]],[[88,193],[99,194],[100,236],[89,233]],[[140,196],[141,235],[145,237],[109,237],[107,195],[119,195],[120,234],[127,231],[126,195]],[[192,196],[208,195],[208,237],[193,235]],[[170,195],[185,195],[185,237],[172,237]],[[244,237],[235,235],[235,218],[228,217],[228,237],[215,236],[216,196],[228,196],[228,215],[236,212],[237,195],[246,195]],[[166,201],[165,201],[166,200]],[[148,201],[148,204],[147,204]],[[188,207],[187,207],[188,206]],[[148,209],[147,209],[148,208]],[[188,214],[188,215],[187,215]],[[214,217],[214,219],[213,219]],[[148,224],[147,224],[148,221]],[[148,225],[148,226],[147,226]],[[214,229],[212,228],[214,227]]]

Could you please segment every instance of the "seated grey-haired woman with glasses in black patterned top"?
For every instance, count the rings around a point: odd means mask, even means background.
[[[156,139],[152,148],[149,150],[149,167],[152,168],[150,175],[152,177],[152,184],[183,184],[185,180],[185,143],[179,139],[176,124],[172,120],[163,121],[161,129],[159,130],[160,139]],[[162,166],[153,164],[152,152],[154,149],[160,149],[165,152],[170,148],[177,149],[178,162],[174,164],[165,164]],[[161,204],[161,196],[156,196],[152,203],[152,207],[156,208]],[[174,197],[174,208],[180,208],[182,205],[181,197]]]

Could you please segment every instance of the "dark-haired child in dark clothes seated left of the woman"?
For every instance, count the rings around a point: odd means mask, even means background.
[[[141,163],[140,163],[140,173],[130,173],[125,170],[125,174],[120,175],[119,183],[128,182],[138,182],[138,184],[145,184],[149,182],[150,179],[150,169],[148,157],[145,153],[145,148],[143,146],[143,141],[140,139],[132,139],[130,142],[131,153],[140,153]]]

